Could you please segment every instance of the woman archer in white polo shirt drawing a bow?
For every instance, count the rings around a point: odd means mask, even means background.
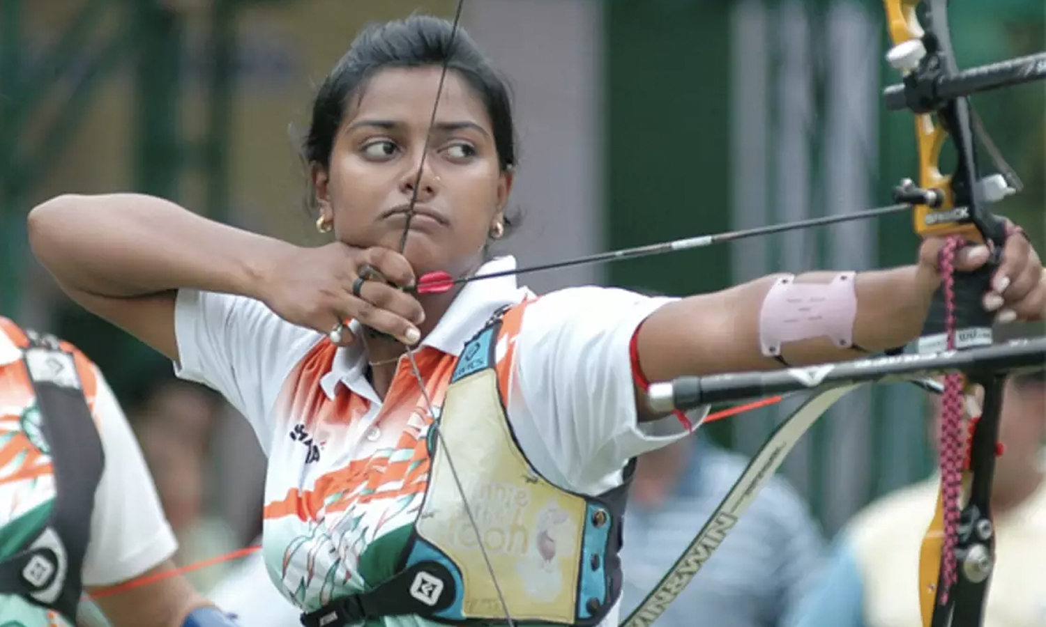
[[[913,265],[681,299],[537,297],[510,276],[418,289],[426,273],[515,263],[488,253],[511,226],[506,88],[430,17],[357,38],[304,157],[326,246],[137,194],[52,199],[29,236],[73,299],[251,422],[269,457],[264,555],[306,625],[616,624],[631,460],[703,418],[653,413],[647,381],[903,345],[940,281],[942,241],[927,239]],[[987,256],[969,247],[956,265]],[[1042,317],[1042,272],[1010,237],[983,306]]]

